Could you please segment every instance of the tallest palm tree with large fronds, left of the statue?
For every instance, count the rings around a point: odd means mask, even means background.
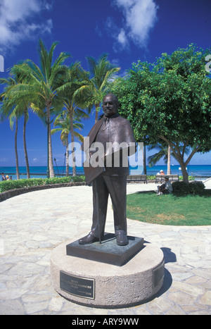
[[[49,51],[47,51],[44,43],[39,40],[39,61],[40,68],[33,61],[27,60],[19,66],[14,66],[13,71],[22,76],[27,76],[28,82],[19,85],[16,90],[27,97],[32,103],[32,108],[42,111],[42,116],[46,118],[48,128],[48,163],[50,177],[54,177],[53,154],[51,146],[51,113],[60,110],[61,101],[58,98],[57,89],[63,84],[61,77],[65,75],[67,66],[63,62],[70,55],[60,53],[53,62],[53,51],[58,42],[53,42]]]

